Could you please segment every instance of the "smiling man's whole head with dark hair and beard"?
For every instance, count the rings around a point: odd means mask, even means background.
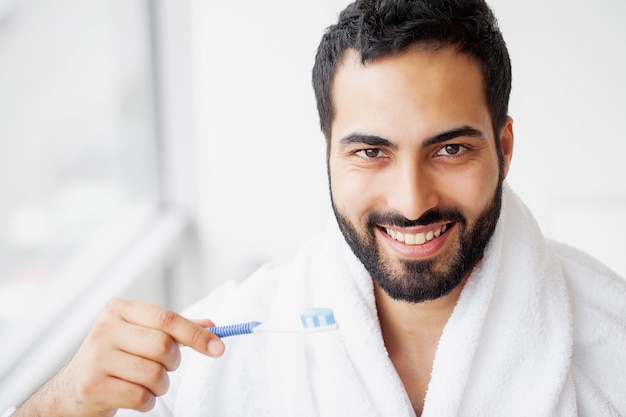
[[[313,70],[339,226],[379,287],[456,288],[493,234],[512,154],[510,65],[478,1],[357,1]]]

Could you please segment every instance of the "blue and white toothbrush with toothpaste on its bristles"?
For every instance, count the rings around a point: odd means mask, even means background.
[[[339,327],[335,321],[335,315],[330,308],[308,308],[300,315],[302,329],[279,329],[266,327],[258,321],[247,323],[230,324],[226,326],[207,327],[207,330],[215,333],[219,337],[238,336],[251,333],[308,333],[316,331],[333,330]]]

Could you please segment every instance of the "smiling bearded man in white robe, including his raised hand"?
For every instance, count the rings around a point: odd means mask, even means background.
[[[326,306],[339,329],[225,346],[116,300],[15,415],[626,414],[626,285],[547,242],[504,183],[511,72],[487,5],[357,1],[313,83],[336,224],[185,315],[293,327]]]

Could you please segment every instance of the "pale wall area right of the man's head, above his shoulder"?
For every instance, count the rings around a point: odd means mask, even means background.
[[[626,277],[626,2],[491,2],[513,61],[510,183],[544,233]]]

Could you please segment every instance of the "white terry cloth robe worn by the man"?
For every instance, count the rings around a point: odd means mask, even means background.
[[[336,224],[293,263],[227,284],[185,315],[298,328],[312,306],[332,308],[339,328],[229,337],[219,359],[183,348],[152,415],[415,416],[371,278]],[[625,282],[546,241],[507,186],[494,236],[443,330],[422,415],[626,415]]]

